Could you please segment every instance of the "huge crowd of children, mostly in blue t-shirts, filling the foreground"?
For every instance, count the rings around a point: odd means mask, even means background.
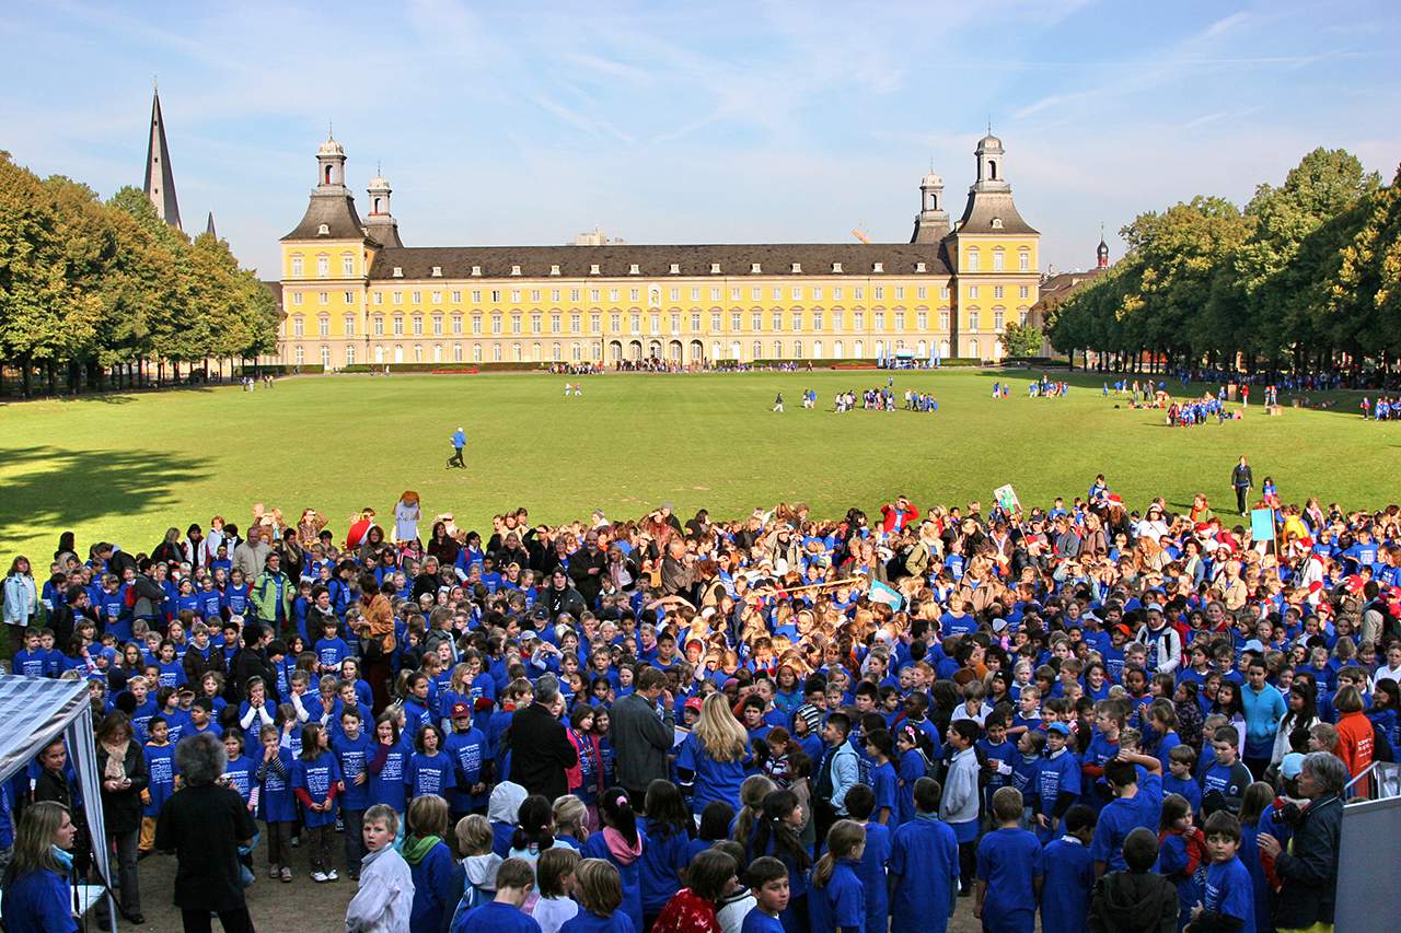
[[[1310,500],[1261,551],[1209,513],[1108,502],[1101,478],[1027,516],[521,510],[486,544],[440,520],[427,549],[373,521],[343,548],[276,527],[252,586],[227,524],[192,560],[186,539],[81,562],[66,538],[13,670],[84,678],[130,724],[142,852],[181,793],[172,748],[221,735],[262,821],[247,880],[258,859],[269,881],[343,871],[350,929],[902,933],[967,895],[993,930],[1128,929],[1132,904],[1271,930],[1302,884],[1276,853],[1317,806],[1304,762],[1359,778],[1401,741],[1401,510]],[[296,577],[275,560],[293,552]],[[269,574],[286,598],[259,595]],[[681,731],[637,799],[609,712],[658,671]],[[576,751],[553,799],[511,780],[509,744],[546,674]],[[729,770],[695,741],[717,717],[747,748]],[[0,828],[74,800],[63,759],[6,787]],[[406,926],[375,926],[399,916],[385,884]]]

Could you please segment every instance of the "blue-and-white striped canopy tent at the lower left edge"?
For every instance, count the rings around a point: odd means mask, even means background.
[[[92,838],[92,863],[111,888],[102,779],[97,769],[87,682],[0,675],[0,780],[10,780],[17,770],[27,768],[59,735],[67,745],[69,762],[83,796],[83,815]],[[102,894],[101,885],[80,884],[74,888],[74,906],[84,913]],[[113,906],[111,899],[108,906]],[[115,922],[112,929],[116,929]]]

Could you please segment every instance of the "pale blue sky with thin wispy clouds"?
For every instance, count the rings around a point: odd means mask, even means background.
[[[1244,203],[1314,146],[1401,161],[1393,1],[24,3],[0,147],[142,181],[153,76],[188,228],[276,268],[328,122],[409,245],[909,238],[986,129],[1058,269],[1146,209]],[[1388,62],[1391,64],[1388,64]]]

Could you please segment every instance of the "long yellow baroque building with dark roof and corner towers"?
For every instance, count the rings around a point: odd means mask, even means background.
[[[943,179],[920,182],[908,244],[405,247],[389,184],[361,220],[345,148],[282,238],[287,366],[604,363],[667,359],[915,360],[1003,354],[1038,298],[1040,234],[1017,213],[1002,141],[953,226]]]

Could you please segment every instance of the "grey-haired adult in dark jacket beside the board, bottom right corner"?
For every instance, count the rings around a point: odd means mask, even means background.
[[[1288,850],[1268,832],[1257,843],[1275,860],[1281,888],[1275,926],[1285,930],[1331,930],[1338,897],[1338,843],[1342,831],[1342,789],[1348,768],[1331,752],[1304,755],[1299,793],[1309,806],[1295,827]]]

